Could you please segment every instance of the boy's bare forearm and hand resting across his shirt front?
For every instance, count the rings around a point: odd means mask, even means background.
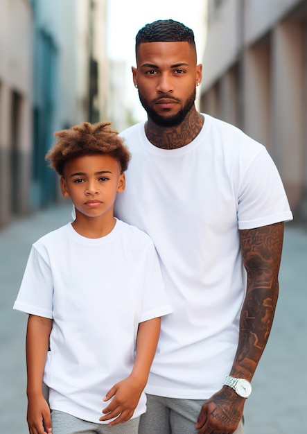
[[[159,340],[160,325],[161,318],[153,318],[139,324],[137,354],[132,372],[127,379],[116,383],[105,395],[104,401],[108,401],[112,397],[113,399],[104,408],[105,416],[100,417],[100,421],[116,417],[109,423],[109,426],[112,426],[126,422],[132,417],[148,380],[150,366]]]

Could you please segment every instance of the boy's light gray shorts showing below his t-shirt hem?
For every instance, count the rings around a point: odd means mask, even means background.
[[[71,416],[62,411],[51,411],[52,434],[137,434],[139,417],[108,426],[107,424],[95,424],[87,422],[78,417]]]

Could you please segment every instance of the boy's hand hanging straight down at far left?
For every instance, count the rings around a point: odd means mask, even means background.
[[[30,434],[51,434],[50,408],[43,396],[28,399],[27,421]]]

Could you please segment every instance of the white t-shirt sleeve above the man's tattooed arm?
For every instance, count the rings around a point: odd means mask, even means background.
[[[238,193],[238,228],[253,229],[292,220],[277,167],[263,148],[247,168]]]

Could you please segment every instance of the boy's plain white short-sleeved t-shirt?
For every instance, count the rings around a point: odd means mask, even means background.
[[[40,238],[14,309],[53,319],[44,370],[51,409],[96,423],[106,392],[132,371],[139,322],[171,311],[152,241],[121,220],[102,238],[71,223]],[[145,411],[143,393],[133,417]]]

